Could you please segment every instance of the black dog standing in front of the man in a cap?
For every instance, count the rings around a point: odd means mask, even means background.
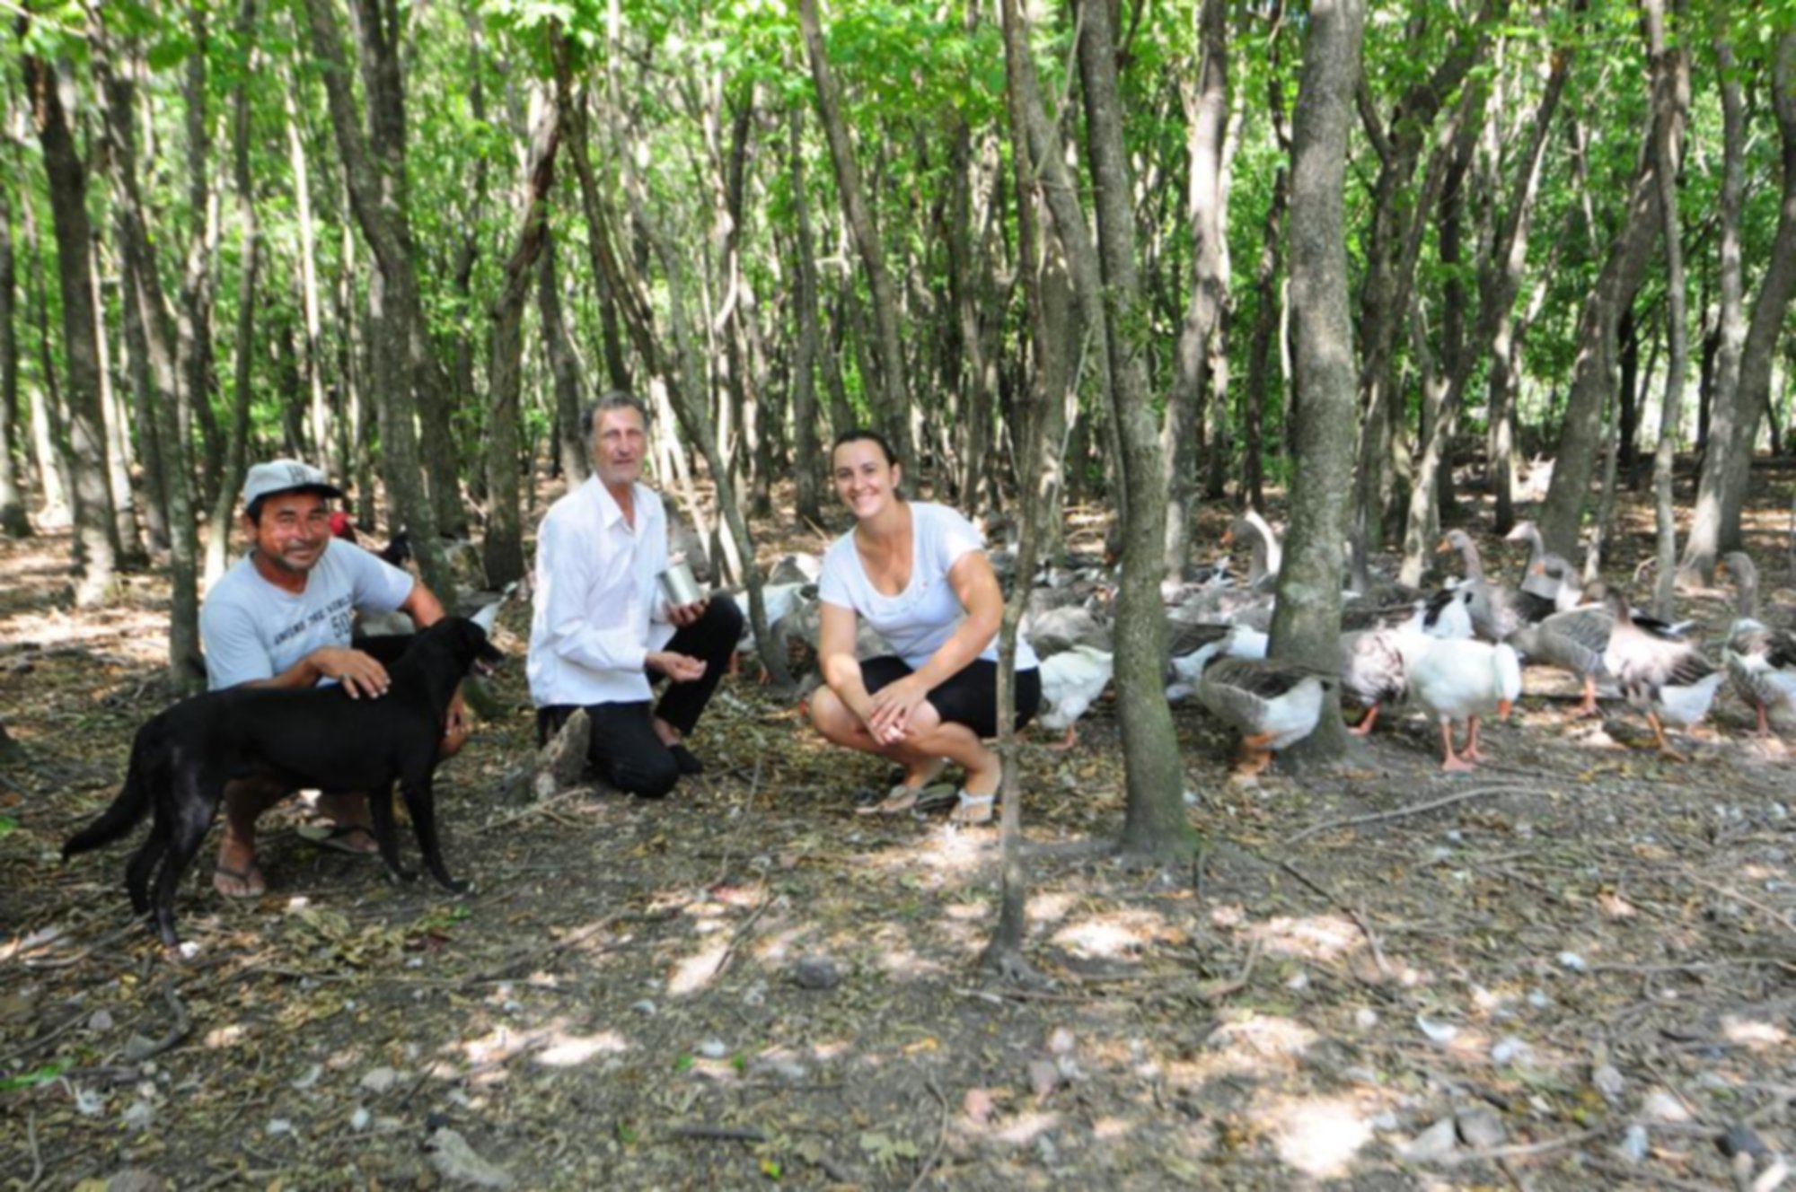
[[[97,820],[70,837],[63,858],[117,840],[154,810],[149,838],[126,867],[126,889],[131,907],[145,914],[160,862],[156,926],[172,946],[174,889],[217,815],[226,783],[257,777],[287,790],[368,792],[381,860],[393,878],[411,880],[415,874],[399,867],[393,833],[397,781],[426,867],[444,887],[462,892],[467,883],[449,876],[436,840],[431,774],[456,684],[476,662],[501,657],[480,625],[444,618],[390,664],[392,686],[375,700],[352,700],[336,686],[230,688],[183,700],[136,731],[124,790]]]

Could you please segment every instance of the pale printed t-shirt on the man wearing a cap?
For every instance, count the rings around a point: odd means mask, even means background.
[[[320,646],[347,646],[356,609],[392,612],[411,585],[409,571],[343,539],[330,539],[298,594],[264,580],[244,555],[199,609],[207,686],[273,679]]]

